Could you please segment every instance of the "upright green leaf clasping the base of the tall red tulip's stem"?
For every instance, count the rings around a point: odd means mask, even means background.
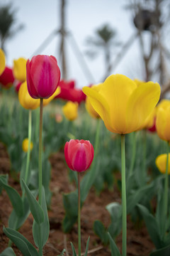
[[[44,211],[44,221],[41,224],[38,224],[34,221],[33,223],[33,238],[35,245],[37,247],[44,246],[47,242],[49,233],[50,233],[50,224],[47,214],[47,204],[45,200],[45,190],[44,187],[42,187],[42,209]],[[39,228],[40,225],[40,228]]]

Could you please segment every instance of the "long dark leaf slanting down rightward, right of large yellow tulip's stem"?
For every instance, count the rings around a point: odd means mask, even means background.
[[[157,225],[157,220],[154,218],[154,216],[149,213],[149,210],[140,204],[137,205],[140,209],[140,212],[142,213],[142,217],[145,220],[145,224],[147,226],[147,231],[149,233],[150,238],[152,239],[152,242],[154,242],[155,247],[160,248],[162,247],[162,240],[159,237],[159,228]]]

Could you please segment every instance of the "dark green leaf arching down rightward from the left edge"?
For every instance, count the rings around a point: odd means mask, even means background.
[[[6,183],[6,178],[4,176],[0,176],[0,184],[6,190],[13,209],[16,211],[16,215],[18,215],[19,217],[23,215],[23,201],[16,189],[12,188]]]

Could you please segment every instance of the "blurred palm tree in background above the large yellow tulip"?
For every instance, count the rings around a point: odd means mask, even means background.
[[[98,53],[103,51],[106,66],[105,79],[111,74],[112,48],[120,44],[117,40],[117,31],[108,24],[105,24],[101,28],[96,29],[94,36],[86,38],[86,44],[89,46],[86,54],[91,58],[96,58]]]

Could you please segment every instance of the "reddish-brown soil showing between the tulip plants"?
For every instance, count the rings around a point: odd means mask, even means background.
[[[67,255],[72,255],[72,247],[70,242],[74,244],[77,250],[77,225],[74,225],[72,232],[64,235],[62,231],[62,220],[64,218],[64,208],[62,204],[62,193],[74,191],[73,183],[69,182],[68,170],[64,163],[64,153],[59,151],[50,156],[52,165],[50,189],[52,191],[52,203],[49,210],[50,218],[50,236],[47,244],[43,248],[44,256],[60,255],[62,250],[67,246]],[[0,144],[0,174],[8,174],[8,183],[16,188],[21,193],[21,188],[18,182],[14,181],[10,175],[10,160],[6,151],[6,147]],[[82,174],[83,176],[84,174]],[[84,206],[81,210],[81,252],[86,249],[86,241],[90,235],[89,253],[91,256],[108,256],[111,255],[109,247],[104,247],[101,240],[94,234],[94,220],[101,220],[106,227],[110,224],[110,216],[106,210],[108,203],[113,201],[120,202],[120,191],[114,185],[113,191],[108,191],[105,188],[100,196],[96,195],[94,188],[91,188],[89,196],[86,198]],[[12,206],[6,194],[2,191],[0,195],[0,252],[8,246],[8,238],[3,233],[3,226],[8,226],[8,216],[11,213]],[[21,227],[20,232],[33,243],[32,235],[33,216],[28,216],[26,223]],[[142,223],[140,229],[135,226],[128,216],[128,238],[127,238],[127,255],[128,256],[147,256],[154,250],[154,244],[149,238],[145,224]],[[122,237],[121,234],[116,238],[116,244],[121,250]],[[34,244],[34,243],[33,243]],[[12,245],[16,256],[22,255],[21,252]]]

